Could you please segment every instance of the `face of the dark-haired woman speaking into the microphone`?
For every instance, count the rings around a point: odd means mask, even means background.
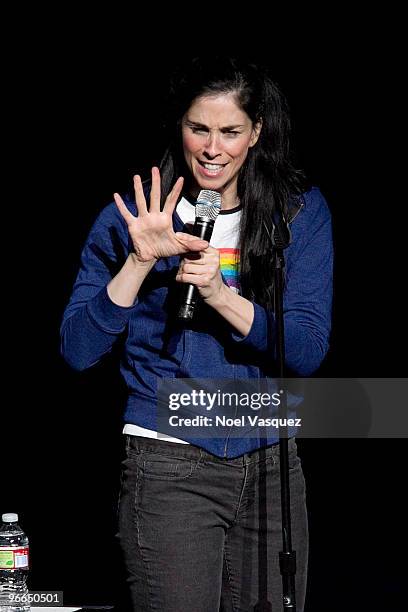
[[[184,158],[194,187],[219,191],[222,208],[237,205],[238,173],[260,128],[232,93],[196,98],[183,117]]]

